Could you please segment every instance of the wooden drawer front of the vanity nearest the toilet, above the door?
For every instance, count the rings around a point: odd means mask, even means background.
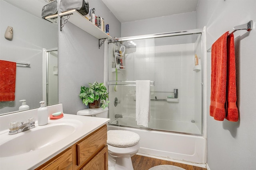
[[[104,125],[98,131],[76,144],[76,165],[85,164],[106,145],[107,126]]]

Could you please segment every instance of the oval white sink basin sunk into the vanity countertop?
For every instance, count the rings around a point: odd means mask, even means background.
[[[15,156],[34,150],[44,149],[58,141],[69,137],[81,124],[80,121],[52,121],[44,126],[38,126],[28,131],[14,135],[5,134],[7,140],[0,145],[0,157]]]

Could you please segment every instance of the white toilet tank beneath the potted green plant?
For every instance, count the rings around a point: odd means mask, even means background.
[[[108,118],[108,107],[106,107],[105,109],[83,109],[79,110],[76,115]]]

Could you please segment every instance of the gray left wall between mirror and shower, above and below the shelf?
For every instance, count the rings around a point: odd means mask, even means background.
[[[121,36],[121,23],[101,0],[90,0],[96,16],[102,16],[110,25],[110,36]],[[64,113],[76,114],[87,107],[79,98],[80,87],[94,81],[104,81],[104,45],[98,47],[98,39],[67,22],[59,31],[58,44],[59,103]]]

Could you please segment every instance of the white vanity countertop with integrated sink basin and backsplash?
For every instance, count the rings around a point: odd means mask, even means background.
[[[62,104],[48,106],[52,113],[62,111]],[[47,125],[9,135],[8,125],[37,116],[38,109],[0,116],[0,170],[36,169],[68,149],[110,119],[65,114]]]

